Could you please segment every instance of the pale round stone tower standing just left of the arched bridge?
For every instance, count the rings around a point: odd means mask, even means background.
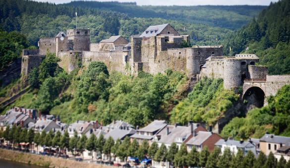
[[[241,85],[241,61],[226,58],[224,61],[224,88],[232,89]]]

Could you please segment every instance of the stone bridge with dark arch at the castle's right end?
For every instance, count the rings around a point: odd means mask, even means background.
[[[267,75],[266,79],[249,79],[243,84],[242,99],[250,97],[260,100],[257,107],[267,105],[266,98],[276,95],[285,84],[290,84],[290,75]]]

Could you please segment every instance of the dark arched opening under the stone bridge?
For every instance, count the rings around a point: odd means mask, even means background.
[[[263,107],[265,100],[265,93],[260,87],[250,87],[243,95],[243,100],[246,100],[247,110],[251,110],[255,107]]]

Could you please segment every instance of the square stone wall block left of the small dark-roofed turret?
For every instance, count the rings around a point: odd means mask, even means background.
[[[47,51],[56,53],[55,38],[41,38],[39,39],[38,46],[40,55],[46,55]]]

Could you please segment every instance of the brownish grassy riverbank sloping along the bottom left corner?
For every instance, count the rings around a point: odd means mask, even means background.
[[[0,159],[47,168],[109,168],[109,166],[105,165],[76,162],[74,160],[22,153],[5,149],[0,149]]]

